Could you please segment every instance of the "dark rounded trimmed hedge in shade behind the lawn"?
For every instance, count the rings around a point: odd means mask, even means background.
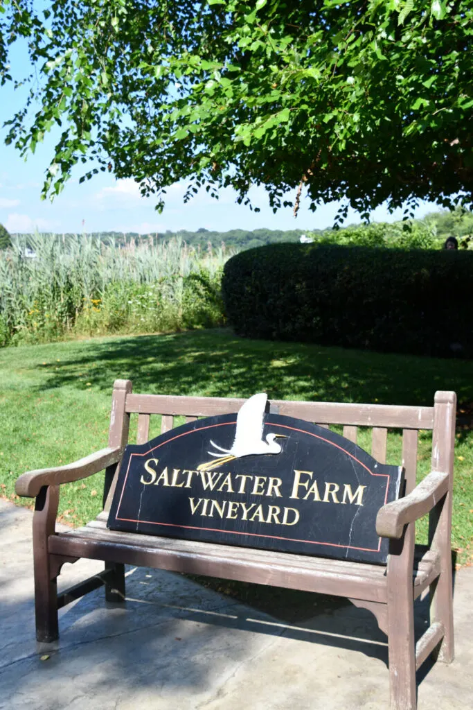
[[[473,356],[473,253],[272,244],[226,263],[235,333],[428,356]]]

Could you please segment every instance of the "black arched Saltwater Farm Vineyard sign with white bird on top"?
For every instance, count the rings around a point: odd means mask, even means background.
[[[266,400],[254,395],[238,417],[127,446],[108,527],[386,562],[376,515],[399,497],[403,469],[330,430],[266,413]]]

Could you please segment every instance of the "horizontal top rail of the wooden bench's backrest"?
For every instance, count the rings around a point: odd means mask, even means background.
[[[171,397],[168,395],[128,394],[128,413],[211,417],[238,412],[246,400],[226,397]],[[308,422],[328,422],[360,427],[433,428],[433,407],[398,405],[338,404],[333,402],[295,402],[272,400],[279,414]]]

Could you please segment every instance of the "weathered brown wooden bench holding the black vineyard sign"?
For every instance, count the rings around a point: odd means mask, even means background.
[[[433,407],[273,401],[282,415],[324,427],[343,425],[343,435],[357,439],[357,427],[372,427],[372,456],[386,461],[388,429],[402,430],[402,465],[406,495],[377,515],[377,534],[389,537],[386,567],[322,559],[284,552],[174,540],[106,528],[118,466],[128,443],[130,415],[138,414],[138,444],[148,441],[150,416],[161,415],[162,432],[174,417],[235,413],[244,400],[133,394],[128,380],[113,388],[108,447],[68,466],[29,471],[18,478],[19,496],[35,497],[33,552],[36,633],[39,641],[58,637],[57,610],[105,585],[106,599],[125,599],[124,564],[204,574],[347,597],[369,609],[388,636],[391,708],[416,708],[416,669],[435,653],[453,659],[452,561],[450,530],[456,396],[437,392]],[[433,430],[432,471],[416,486],[418,433]],[[401,464],[401,461],[399,461]],[[104,510],[84,528],[55,531],[60,484],[106,470]],[[415,520],[429,513],[428,547],[414,543]],[[105,569],[57,595],[62,564],[81,557],[101,559]],[[414,640],[413,601],[430,591],[430,626]]]

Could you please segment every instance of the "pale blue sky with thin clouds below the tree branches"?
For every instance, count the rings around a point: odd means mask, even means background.
[[[21,48],[11,57],[16,76],[29,70],[28,60]],[[294,218],[292,209],[286,207],[273,214],[264,188],[250,192],[252,204],[261,212],[251,212],[235,202],[232,190],[221,192],[220,200],[213,200],[206,192],[184,204],[185,185],[177,183],[167,191],[167,204],[162,214],[154,209],[152,199],[140,196],[138,185],[133,180],[115,180],[113,175],[100,173],[90,181],[79,184],[77,174],[54,202],[40,200],[40,189],[45,170],[52,157],[53,139],[46,136],[43,145],[25,162],[15,148],[5,146],[4,121],[21,106],[21,92],[13,87],[0,87],[0,223],[11,232],[39,231],[138,231],[141,234],[163,232],[168,229],[195,231],[199,227],[227,231],[228,229],[323,229],[332,226],[339,204],[332,202],[319,207],[316,212],[308,209],[308,200],[301,200],[299,214]],[[294,200],[289,193],[288,199]],[[438,209],[434,204],[422,203],[416,209],[416,217]],[[373,221],[392,222],[402,218],[402,209],[389,214],[386,207],[379,207],[372,215]],[[360,215],[350,210],[345,224],[360,222]]]

